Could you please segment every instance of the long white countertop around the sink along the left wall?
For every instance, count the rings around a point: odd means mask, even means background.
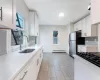
[[[36,49],[29,54],[22,54],[17,51],[0,56],[0,80],[13,80],[41,47],[42,46],[28,47]]]

